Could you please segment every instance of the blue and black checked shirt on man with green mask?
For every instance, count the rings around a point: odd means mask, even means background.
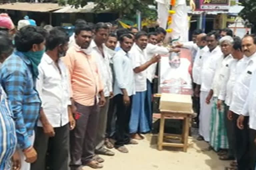
[[[31,61],[23,53],[15,51],[5,60],[0,71],[1,85],[11,102],[21,149],[32,145],[29,136],[33,135],[41,105],[31,69]]]

